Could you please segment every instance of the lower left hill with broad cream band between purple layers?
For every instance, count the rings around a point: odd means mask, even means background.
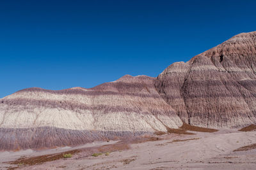
[[[182,121],[154,79],[126,75],[93,89],[24,89],[0,100],[0,150],[80,145],[166,131]]]

